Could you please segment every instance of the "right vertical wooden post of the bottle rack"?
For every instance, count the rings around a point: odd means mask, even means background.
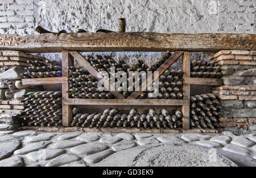
[[[189,52],[183,53],[183,78],[190,77],[190,55]],[[190,84],[183,84],[183,99],[190,101]],[[189,105],[182,106],[183,129],[189,129]]]

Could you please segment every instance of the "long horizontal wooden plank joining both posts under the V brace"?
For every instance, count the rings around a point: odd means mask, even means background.
[[[64,105],[152,105],[152,106],[181,106],[189,105],[189,100],[164,100],[164,99],[137,99],[137,100],[117,100],[117,99],[74,99],[63,98]]]

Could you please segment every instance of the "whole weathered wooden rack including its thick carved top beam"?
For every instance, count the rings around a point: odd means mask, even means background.
[[[62,52],[63,77],[23,79],[24,85],[62,84],[63,126],[72,121],[72,105],[154,105],[181,106],[184,114],[183,129],[189,129],[190,85],[222,85],[221,79],[191,78],[189,52],[218,52],[221,50],[256,50],[255,34],[160,34],[155,32],[112,32],[112,33],[67,33],[40,35],[0,35],[0,50],[23,51],[30,53]],[[133,92],[127,99],[121,93],[112,92],[115,99],[72,99],[68,94],[68,67],[74,60],[85,67],[98,80],[102,77],[79,52],[99,51],[176,51],[158,69],[162,74],[172,63],[183,55],[183,100],[139,100],[141,92]],[[153,82],[159,76],[152,76]],[[143,90],[142,85],[140,89]]]

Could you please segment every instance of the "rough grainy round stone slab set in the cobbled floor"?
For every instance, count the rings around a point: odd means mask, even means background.
[[[236,167],[214,148],[192,144],[164,144],[142,151],[133,166],[151,167]]]

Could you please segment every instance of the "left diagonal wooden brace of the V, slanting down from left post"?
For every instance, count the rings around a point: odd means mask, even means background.
[[[81,64],[83,67],[85,67],[85,69],[90,74],[92,74],[95,78],[97,78],[98,81],[101,81],[103,84],[108,83],[109,86],[110,86],[110,82],[107,81],[104,77],[102,77],[101,74],[98,73],[98,71],[96,71],[96,69],[94,69],[92,67],[92,65],[90,65],[90,63],[88,63],[88,61],[86,59],[84,59],[84,57],[79,52],[69,51],[69,53],[75,58],[75,60],[77,60],[77,62],[79,62],[79,64]],[[125,98],[118,91],[112,91],[112,90],[109,90],[109,91],[115,96],[115,98],[118,98],[118,99],[124,99]]]

